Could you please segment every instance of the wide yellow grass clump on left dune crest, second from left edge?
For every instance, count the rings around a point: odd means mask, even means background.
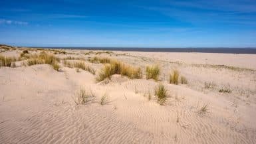
[[[27,65],[35,64],[50,64],[54,70],[59,70],[60,66],[58,64],[59,58],[53,56],[52,54],[47,54],[46,52],[41,52],[40,54],[35,54],[29,56],[30,59],[27,60]]]

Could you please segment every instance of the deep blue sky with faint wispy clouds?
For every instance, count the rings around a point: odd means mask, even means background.
[[[1,0],[0,44],[256,47],[256,1]]]

